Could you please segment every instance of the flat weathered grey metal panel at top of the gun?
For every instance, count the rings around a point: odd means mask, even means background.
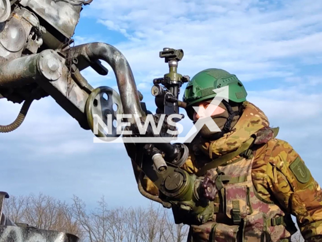
[[[67,38],[74,33],[83,6],[82,2],[72,0],[22,0],[20,4],[31,8]]]

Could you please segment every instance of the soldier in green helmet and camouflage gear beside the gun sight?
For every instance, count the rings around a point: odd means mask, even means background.
[[[216,96],[212,90],[229,86],[229,101],[213,113],[207,108]],[[322,192],[301,157],[285,141],[266,115],[246,100],[244,85],[235,75],[220,69],[198,73],[187,85],[187,114],[196,122],[210,115],[221,132],[203,126],[189,144],[183,165],[189,173],[219,176],[221,186],[214,200],[211,221],[191,224],[188,241],[290,241],[296,231],[305,241],[322,241]],[[146,191],[157,195],[149,181]]]

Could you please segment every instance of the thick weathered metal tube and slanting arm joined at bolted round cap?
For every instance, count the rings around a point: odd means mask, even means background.
[[[85,105],[89,94],[79,87],[64,65],[65,59],[53,50],[28,55],[0,65],[0,88],[20,87],[37,82],[84,129],[89,129]]]

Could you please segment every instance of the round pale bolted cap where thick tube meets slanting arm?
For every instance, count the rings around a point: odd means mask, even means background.
[[[55,51],[47,49],[40,53],[39,68],[45,78],[56,81],[61,77],[62,61]]]

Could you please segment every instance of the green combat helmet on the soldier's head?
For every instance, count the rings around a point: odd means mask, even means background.
[[[217,94],[212,90],[229,86],[229,101],[242,103],[246,101],[247,92],[244,85],[238,80],[235,75],[221,69],[207,69],[199,72],[188,83],[184,102],[187,103],[187,114],[190,119],[193,119],[193,106],[197,106],[198,102],[213,99]],[[227,102],[223,102],[227,110],[231,109]],[[230,112],[230,111],[229,111]],[[231,114],[231,113],[230,113]]]

